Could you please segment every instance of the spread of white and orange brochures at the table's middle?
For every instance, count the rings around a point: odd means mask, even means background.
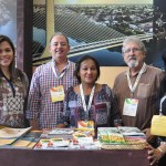
[[[93,141],[93,132],[79,128],[54,128],[45,131],[34,149],[101,149]]]

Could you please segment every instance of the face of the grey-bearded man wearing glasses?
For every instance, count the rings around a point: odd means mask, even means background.
[[[129,68],[142,66],[145,59],[145,52],[137,43],[131,42],[124,46],[123,51],[124,61]]]

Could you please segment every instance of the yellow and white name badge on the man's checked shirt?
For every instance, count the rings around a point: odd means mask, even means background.
[[[51,101],[61,102],[64,101],[64,87],[63,85],[50,89]]]

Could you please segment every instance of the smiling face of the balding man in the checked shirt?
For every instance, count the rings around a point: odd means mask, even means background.
[[[54,35],[50,42],[50,52],[54,60],[66,59],[70,45],[63,35]]]

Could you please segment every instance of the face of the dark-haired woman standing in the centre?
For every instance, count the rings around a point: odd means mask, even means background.
[[[79,75],[82,83],[94,84],[97,74],[97,69],[93,60],[87,59],[81,63]]]

